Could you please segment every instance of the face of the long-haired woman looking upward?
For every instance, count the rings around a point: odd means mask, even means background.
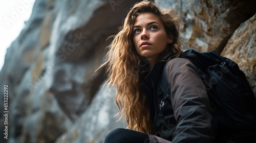
[[[164,25],[153,13],[141,13],[133,27],[133,42],[136,51],[145,57],[152,67],[173,37],[166,35]]]

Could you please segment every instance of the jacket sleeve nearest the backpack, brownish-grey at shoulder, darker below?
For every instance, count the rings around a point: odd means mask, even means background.
[[[177,121],[172,142],[213,142],[210,104],[195,65],[175,58],[167,62],[165,71]]]

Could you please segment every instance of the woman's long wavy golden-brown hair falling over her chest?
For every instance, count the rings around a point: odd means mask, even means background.
[[[142,59],[136,52],[133,42],[135,19],[145,12],[157,15],[163,22],[166,34],[173,35],[174,38],[173,43],[167,44],[160,60],[169,60],[180,55],[180,30],[183,28],[183,20],[173,9],[160,10],[153,2],[142,1],[131,8],[118,34],[109,37],[113,38],[113,41],[107,47],[109,51],[106,54],[106,61],[100,67],[106,67],[106,82],[111,86],[116,85],[115,100],[119,108],[119,119],[126,118],[127,129],[150,133],[150,109],[140,85],[140,75],[148,68],[141,64]]]

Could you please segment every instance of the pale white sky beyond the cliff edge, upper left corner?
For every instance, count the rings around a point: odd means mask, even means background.
[[[35,0],[2,0],[0,2],[0,70],[7,48],[25,27]],[[6,61],[8,63],[8,61]]]

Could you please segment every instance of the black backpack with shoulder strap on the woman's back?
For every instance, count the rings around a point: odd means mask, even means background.
[[[215,142],[256,142],[256,99],[238,64],[215,51],[188,50],[180,57],[197,67],[204,82],[214,117]],[[161,82],[168,84],[165,70]],[[163,87],[163,92],[169,93],[168,86]]]

